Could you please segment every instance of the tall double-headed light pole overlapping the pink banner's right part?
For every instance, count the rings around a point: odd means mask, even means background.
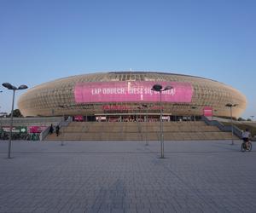
[[[161,157],[160,158],[165,158],[164,155],[164,135],[163,135],[163,119],[162,119],[162,92],[172,89],[172,86],[168,85],[163,89],[163,86],[160,84],[154,84],[151,90],[159,92],[160,94],[160,143],[161,143]]]

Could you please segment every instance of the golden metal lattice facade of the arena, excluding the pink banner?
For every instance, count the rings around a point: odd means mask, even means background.
[[[232,108],[233,116],[238,118],[247,107],[245,95],[224,83],[207,78],[163,72],[101,72],[60,78],[49,83],[28,89],[20,96],[18,107],[24,116],[56,115],[95,115],[109,113],[104,110],[106,103],[78,104],[74,98],[76,83],[116,81],[170,81],[191,83],[193,96],[191,103],[163,103],[163,112],[172,115],[202,115],[204,107],[212,107],[214,116],[230,116],[227,103],[237,104]],[[146,103],[155,106],[158,103]],[[108,103],[109,106],[125,106],[131,110],[125,113],[155,113],[159,110],[145,109],[140,102]],[[61,106],[61,107],[60,107]],[[120,107],[121,109],[122,107]],[[122,113],[117,110],[115,113]],[[112,112],[111,112],[112,113]],[[114,112],[113,112],[114,113]]]

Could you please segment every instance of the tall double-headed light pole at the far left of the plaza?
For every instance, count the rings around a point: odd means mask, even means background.
[[[3,83],[3,87],[7,89],[13,90],[13,103],[12,103],[12,111],[11,111],[11,118],[10,118],[10,129],[9,129],[9,145],[8,145],[8,158],[10,157],[11,152],[11,143],[12,143],[12,133],[13,133],[13,116],[14,116],[14,105],[15,105],[15,91],[20,89],[27,89],[26,85],[20,85],[20,87],[16,88],[11,83]]]

